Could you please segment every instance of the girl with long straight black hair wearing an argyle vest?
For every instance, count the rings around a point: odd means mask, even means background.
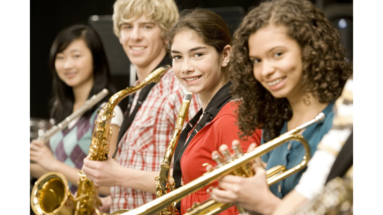
[[[49,68],[54,94],[52,124],[60,123],[104,88],[109,90],[106,98],[52,136],[48,146],[36,139],[30,144],[30,160],[35,162],[30,164],[30,175],[38,178],[46,172],[61,172],[74,193],[79,179],[77,172],[88,154],[97,111],[116,90],[111,84],[101,40],[96,31],[86,25],[73,25],[58,33],[49,53]],[[118,129],[123,120],[121,108],[114,110],[110,151],[116,147]]]

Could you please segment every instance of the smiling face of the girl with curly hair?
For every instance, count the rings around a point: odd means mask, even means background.
[[[257,81],[276,98],[302,97],[302,54],[284,26],[261,28],[248,40],[249,58]]]

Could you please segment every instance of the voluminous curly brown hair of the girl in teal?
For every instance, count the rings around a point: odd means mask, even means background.
[[[253,75],[248,57],[249,36],[269,25],[285,26],[302,51],[302,85],[320,103],[334,101],[342,93],[351,65],[345,61],[341,36],[324,13],[308,0],[271,0],[252,9],[233,35],[229,75],[234,98],[241,98],[237,109],[240,136],[263,128],[265,141],[279,136],[285,121],[292,117],[286,98],[275,98]]]

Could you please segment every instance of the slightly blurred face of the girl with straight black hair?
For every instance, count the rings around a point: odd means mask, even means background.
[[[54,61],[58,77],[72,88],[93,86],[92,53],[83,39],[71,42],[64,51],[57,53]]]

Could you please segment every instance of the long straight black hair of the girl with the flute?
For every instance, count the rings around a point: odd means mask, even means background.
[[[104,88],[109,90],[109,95],[85,112],[83,116],[90,116],[96,108],[116,93],[116,89],[110,80],[109,65],[104,47],[96,31],[86,25],[72,25],[63,29],[57,34],[53,41],[48,60],[48,66],[53,76],[52,91],[54,94],[52,98],[51,118],[55,120],[56,124],[72,113],[74,95],[72,87],[66,85],[58,77],[54,62],[57,53],[64,51],[69,44],[76,39],[83,39],[92,53],[94,82],[88,98],[99,93]]]

